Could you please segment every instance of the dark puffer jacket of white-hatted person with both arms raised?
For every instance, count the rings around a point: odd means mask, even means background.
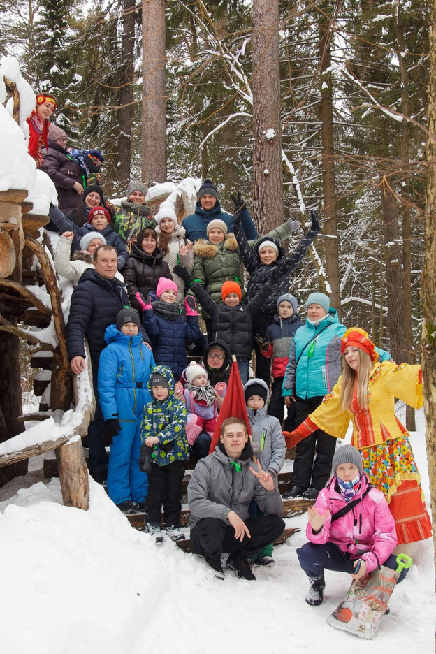
[[[279,265],[279,263],[282,263],[286,260],[286,251],[282,243],[277,240],[277,238],[271,238],[270,236],[264,236],[263,238],[260,238],[256,243],[256,246],[253,249],[250,249],[247,237],[245,236],[244,230],[240,224],[235,224],[234,230],[235,237],[238,241],[240,249],[241,259],[244,262],[245,268],[247,268],[250,274],[250,278],[247,284],[247,301],[249,301],[252,300],[256,296],[256,293],[258,293],[263,288],[264,284],[268,282],[271,273]],[[286,275],[280,279],[277,286],[275,286],[274,293],[271,293],[270,297],[266,299],[259,313],[274,315],[277,312],[277,300],[280,296],[289,291],[290,273],[301,263],[301,261],[303,261],[303,257],[307,252],[307,248],[310,246],[312,241],[317,238],[318,233],[319,229],[316,230],[314,228],[310,228],[310,230],[307,231],[307,233],[300,240],[296,249],[294,249],[293,253],[289,257],[289,261],[291,259],[293,260],[293,267],[289,268],[289,273],[286,273]],[[262,243],[265,241],[272,241],[275,243],[275,245],[277,245],[277,248],[279,249],[279,255],[277,256],[276,261],[270,263],[269,266],[261,263],[259,256],[259,247],[261,247]]]

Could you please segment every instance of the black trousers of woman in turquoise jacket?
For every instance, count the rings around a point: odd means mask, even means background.
[[[297,426],[300,425],[322,402],[322,397],[297,398]],[[318,429],[297,444],[296,459],[293,462],[294,486],[300,488],[324,488],[331,474],[336,439]],[[316,458],[314,460],[314,456]]]

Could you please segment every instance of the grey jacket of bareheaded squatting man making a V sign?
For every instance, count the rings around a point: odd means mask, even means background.
[[[277,481],[274,491],[266,491],[249,470],[250,467],[257,470],[251,460],[238,459],[241,472],[235,470],[231,461],[234,459],[219,448],[198,461],[188,485],[191,529],[201,518],[218,518],[229,525],[229,511],[247,520],[253,497],[263,513],[282,517],[283,504]]]

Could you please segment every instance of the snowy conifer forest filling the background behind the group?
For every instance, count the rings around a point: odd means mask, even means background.
[[[211,177],[225,210],[241,191],[260,233],[319,211],[321,236],[291,291],[300,304],[330,293],[344,324],[413,363],[429,17],[423,0],[0,0],[0,57],[13,54],[36,91],[57,97],[69,145],[103,152],[107,197],[138,177]],[[259,107],[265,148],[280,154],[260,182]],[[256,203],[277,176],[279,191]]]

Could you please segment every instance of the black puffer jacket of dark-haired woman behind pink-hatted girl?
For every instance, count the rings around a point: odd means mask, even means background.
[[[168,263],[163,261],[163,254],[160,249],[154,250],[154,254],[146,254],[139,245],[132,245],[131,254],[122,270],[124,282],[127,284],[127,293],[132,307],[138,310],[142,316],[143,310],[135,293],[142,293],[147,298],[150,291],[156,291],[157,282],[160,277],[166,277],[173,281]]]

